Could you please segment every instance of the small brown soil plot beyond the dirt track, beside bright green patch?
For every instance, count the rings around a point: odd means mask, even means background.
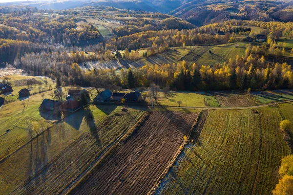
[[[255,105],[245,94],[239,92],[213,92],[219,104],[223,107],[242,107]]]

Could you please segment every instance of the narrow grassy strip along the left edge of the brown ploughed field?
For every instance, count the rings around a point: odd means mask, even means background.
[[[73,195],[76,193],[76,191],[84,185],[84,182],[97,170],[99,169],[103,163],[121,146],[123,145],[127,139],[136,131],[138,130],[141,126],[144,125],[146,120],[148,119],[150,113],[146,112],[142,114],[141,118],[135,123],[135,125],[130,128],[121,139],[119,139],[112,147],[110,147],[107,151],[105,151],[105,154],[101,156],[100,160],[95,163],[95,165],[87,172],[84,174],[84,176],[71,188],[68,190],[64,190],[67,192],[64,192],[66,195]]]

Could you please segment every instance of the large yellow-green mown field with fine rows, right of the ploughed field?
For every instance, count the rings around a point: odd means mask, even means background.
[[[281,120],[275,107],[209,110],[199,139],[182,152],[157,194],[272,194],[280,160],[289,154]]]

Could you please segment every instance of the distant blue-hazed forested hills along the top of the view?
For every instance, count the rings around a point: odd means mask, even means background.
[[[10,2],[0,3],[1,5],[28,5],[43,10],[110,6],[125,10],[166,13],[196,26],[231,19],[293,21],[293,1],[290,0],[64,0]]]

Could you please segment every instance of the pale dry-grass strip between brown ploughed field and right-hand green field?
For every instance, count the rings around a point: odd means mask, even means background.
[[[190,137],[192,131],[197,127],[197,124],[199,123],[201,113],[202,113],[202,110],[198,113],[197,118],[195,119],[191,129],[189,130],[188,137]],[[181,146],[179,147],[179,149],[177,150],[177,152],[175,153],[175,155],[173,156],[173,158],[171,159],[171,161],[169,162],[169,164],[167,165],[165,170],[161,173],[160,177],[157,179],[157,181],[155,182],[153,187],[147,193],[147,195],[154,195],[156,193],[156,190],[160,186],[160,184],[162,183],[162,180],[165,178],[167,173],[169,173],[170,169],[173,167],[174,163],[177,161],[178,156],[182,153],[182,151],[184,150],[185,145],[187,145],[187,144],[188,144],[188,139],[186,141],[183,140],[183,143],[181,144]]]

